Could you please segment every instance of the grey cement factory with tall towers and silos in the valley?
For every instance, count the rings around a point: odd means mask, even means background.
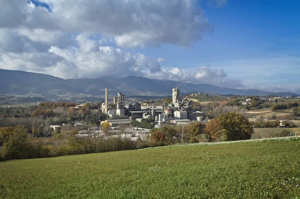
[[[125,103],[124,94],[121,92],[117,93],[117,96],[113,96],[112,101],[109,102],[108,88],[105,88],[105,100],[101,109],[103,113],[109,115],[110,119],[106,122],[109,122],[110,126],[127,125],[132,119],[140,120],[142,118],[155,119],[158,125],[167,120],[174,124],[187,124],[192,120],[202,121],[204,118],[202,112],[193,112],[191,100],[188,96],[183,98],[178,87],[172,89],[172,102],[164,103],[163,106],[142,105],[138,101]]]

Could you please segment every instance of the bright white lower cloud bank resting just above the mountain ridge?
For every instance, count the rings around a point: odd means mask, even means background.
[[[2,52],[0,68],[42,72],[62,78],[142,75],[191,83],[241,86],[240,80],[227,77],[223,69],[198,67],[188,72],[178,67],[162,67],[162,58],[154,59],[142,53],[102,46],[91,40],[88,34],[78,34],[74,43],[68,48],[53,45],[46,52]]]

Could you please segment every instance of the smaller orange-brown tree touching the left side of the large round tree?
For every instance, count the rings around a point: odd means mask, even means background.
[[[203,129],[205,138],[207,141],[215,141],[222,134],[223,127],[220,124],[218,119],[210,119],[208,123],[206,123],[205,128]]]

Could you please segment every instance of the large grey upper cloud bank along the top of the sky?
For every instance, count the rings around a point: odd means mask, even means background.
[[[0,0],[0,27],[36,29],[35,34],[88,31],[125,47],[190,45],[213,29],[197,0],[38,1],[51,11],[27,0]]]

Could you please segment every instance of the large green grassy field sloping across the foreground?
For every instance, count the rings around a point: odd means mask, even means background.
[[[296,198],[299,159],[294,138],[10,160],[0,197]]]

